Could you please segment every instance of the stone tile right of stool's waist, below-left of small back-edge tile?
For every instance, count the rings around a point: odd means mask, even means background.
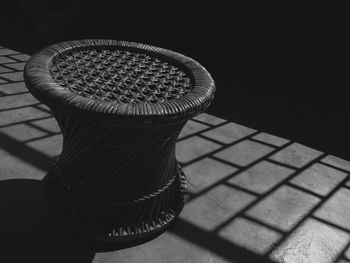
[[[232,145],[216,153],[214,156],[236,165],[245,166],[262,158],[273,150],[274,148],[272,147],[246,140]]]

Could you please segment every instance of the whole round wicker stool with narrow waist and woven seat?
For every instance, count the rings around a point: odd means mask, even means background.
[[[212,101],[209,73],[170,50],[81,40],[39,51],[24,76],[63,133],[62,153],[44,178],[55,215],[97,241],[164,231],[185,202],[176,139]]]

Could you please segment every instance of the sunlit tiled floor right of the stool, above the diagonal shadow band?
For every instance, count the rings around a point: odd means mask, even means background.
[[[183,134],[191,198],[182,220],[262,259],[348,262],[349,162],[206,114]]]

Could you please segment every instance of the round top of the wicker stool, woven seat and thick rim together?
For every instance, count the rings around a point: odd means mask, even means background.
[[[210,74],[193,59],[115,40],[49,46],[28,61],[25,81],[50,106],[124,116],[193,115],[215,92]]]

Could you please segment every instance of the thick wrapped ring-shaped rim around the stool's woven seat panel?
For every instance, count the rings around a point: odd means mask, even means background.
[[[50,74],[52,59],[60,53],[82,47],[120,47],[137,50],[155,57],[175,62],[186,70],[193,81],[193,89],[180,98],[161,103],[118,103],[93,100],[72,93],[53,80]],[[117,115],[118,120],[140,118],[149,121],[182,120],[204,111],[215,93],[215,83],[209,72],[195,60],[180,53],[129,41],[86,39],[65,41],[51,45],[34,54],[24,70],[25,83],[30,92],[40,101],[50,106],[61,106],[71,113],[103,114],[106,118]],[[121,118],[125,117],[125,118]],[[115,120],[115,118],[113,118]],[[134,119],[135,120],[135,119]]]

